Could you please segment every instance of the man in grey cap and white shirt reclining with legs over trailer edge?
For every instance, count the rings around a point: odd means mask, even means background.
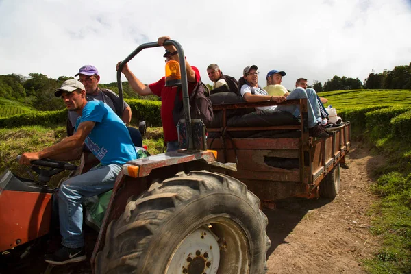
[[[264,101],[275,101],[276,103],[282,103],[286,100],[291,99],[302,99],[307,98],[306,90],[303,88],[295,88],[290,94],[285,96],[271,96],[266,90],[262,89],[258,85],[258,67],[256,65],[246,66],[242,71],[244,75],[246,84],[241,86],[240,92],[245,101],[249,103],[264,102]],[[308,108],[308,128],[310,130],[310,136],[312,137],[327,137],[329,134],[325,132],[323,127],[319,126],[315,119],[314,111],[310,101],[307,103]],[[299,116],[299,106],[297,105],[272,105],[268,107],[259,107],[257,111],[260,113],[275,113],[277,111],[290,112],[295,117]]]

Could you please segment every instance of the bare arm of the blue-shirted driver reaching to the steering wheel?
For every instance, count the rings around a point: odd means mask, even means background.
[[[81,155],[82,150],[79,148],[83,147],[84,140],[86,140],[86,137],[90,134],[94,126],[95,122],[92,121],[80,123],[77,132],[72,136],[63,139],[51,147],[46,147],[42,149],[42,151],[23,153],[19,163],[29,165],[31,161],[44,158],[55,160],[73,160],[74,156],[78,156],[77,158],[79,158],[79,155],[73,154],[79,153]],[[64,155],[66,155],[66,157],[64,157]]]

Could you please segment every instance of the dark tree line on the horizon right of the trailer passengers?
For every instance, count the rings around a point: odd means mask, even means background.
[[[411,62],[408,66],[395,66],[394,69],[385,70],[382,73],[371,71],[369,76],[364,79],[364,83],[360,79],[339,77],[334,75],[332,79],[325,81],[324,85],[321,82],[314,80],[312,84],[317,92],[332,91],[332,90],[358,90],[358,89],[411,89]]]

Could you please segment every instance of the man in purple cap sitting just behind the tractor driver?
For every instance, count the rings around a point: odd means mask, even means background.
[[[119,95],[112,92],[107,88],[99,88],[99,81],[100,75],[99,71],[95,66],[91,66],[89,64],[82,66],[79,69],[79,73],[75,76],[79,76],[79,82],[84,85],[86,88],[86,95],[87,100],[98,100],[103,101],[104,103],[108,104],[112,110],[120,116],[121,110],[123,110],[123,114],[121,115],[121,120],[128,125],[132,120],[132,109],[130,106],[123,100],[120,101]],[[69,112],[69,121],[67,121],[67,136],[73,135],[73,129],[75,127],[75,121],[79,118],[76,112]],[[130,136],[132,137],[133,143],[136,147],[142,147],[142,136],[140,131],[134,127],[128,127]]]

